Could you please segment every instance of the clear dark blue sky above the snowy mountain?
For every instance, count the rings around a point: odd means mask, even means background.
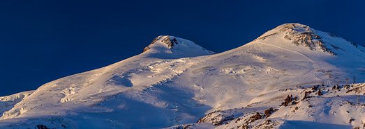
[[[0,1],[0,96],[141,53],[158,35],[221,53],[285,23],[365,45],[364,1]]]

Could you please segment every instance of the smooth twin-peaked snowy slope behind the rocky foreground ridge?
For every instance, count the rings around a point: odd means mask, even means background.
[[[145,50],[39,87],[3,114],[1,127],[166,128],[219,110],[277,107],[288,94],[299,94],[284,89],[365,78],[364,47],[301,24],[278,26],[214,55],[172,36],[157,37]],[[278,120],[278,126],[288,120]]]

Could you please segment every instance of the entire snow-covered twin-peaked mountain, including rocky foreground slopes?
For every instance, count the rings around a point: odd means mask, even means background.
[[[0,98],[1,128],[364,127],[365,47],[283,24],[216,53],[158,36],[144,52]],[[318,86],[319,85],[319,86]],[[314,86],[314,87],[313,87]],[[198,123],[197,123],[198,122]]]

